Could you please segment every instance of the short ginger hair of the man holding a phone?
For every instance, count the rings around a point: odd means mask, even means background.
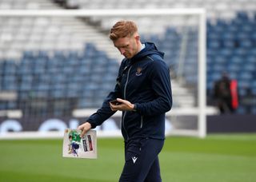
[[[131,37],[136,32],[138,32],[138,27],[134,22],[121,20],[116,22],[110,30],[110,39],[116,41],[118,38]]]

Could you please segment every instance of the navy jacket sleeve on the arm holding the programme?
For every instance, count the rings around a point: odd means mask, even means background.
[[[123,65],[123,61],[122,61],[122,65]],[[118,75],[120,75],[120,73],[122,72],[121,71],[123,67],[122,65],[119,68]],[[87,119],[87,122],[90,123],[92,129],[94,129],[98,125],[102,125],[104,121],[106,121],[116,112],[110,109],[110,101],[113,101],[118,97],[121,97],[121,95],[122,93],[117,81],[117,84],[115,85],[114,90],[110,92],[109,95],[106,97],[106,99],[103,101],[102,107]]]

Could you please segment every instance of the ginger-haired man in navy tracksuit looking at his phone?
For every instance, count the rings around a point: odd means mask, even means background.
[[[116,111],[122,111],[125,165],[119,181],[162,181],[158,154],[165,139],[165,113],[172,106],[168,66],[153,43],[142,44],[134,22],[117,22],[110,30],[110,39],[125,57],[117,84],[102,108],[78,129],[83,137]]]

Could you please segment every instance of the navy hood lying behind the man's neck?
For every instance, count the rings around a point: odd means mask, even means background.
[[[139,53],[137,53],[134,57],[132,57],[130,60],[131,62],[141,59],[142,57],[149,56],[150,54],[158,54],[160,57],[164,57],[164,53],[161,51],[158,51],[158,48],[154,45],[152,42],[142,42],[142,44],[145,44],[145,48],[142,49]]]

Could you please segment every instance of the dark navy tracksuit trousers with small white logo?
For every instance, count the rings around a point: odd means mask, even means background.
[[[158,154],[164,140],[139,138],[125,143],[126,163],[119,182],[161,182]]]

